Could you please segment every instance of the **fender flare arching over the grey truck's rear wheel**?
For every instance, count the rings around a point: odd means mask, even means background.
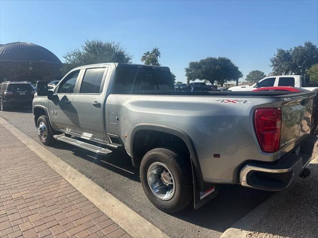
[[[139,130],[154,130],[154,131],[159,131],[159,132],[165,132],[165,133],[172,134],[172,135],[179,137],[185,143],[185,145],[187,146],[187,148],[190,152],[191,167],[192,167],[192,170],[194,171],[193,179],[196,179],[196,182],[194,181],[194,184],[197,184],[199,189],[201,189],[201,191],[204,191],[205,182],[203,180],[198,155],[197,155],[194,143],[187,133],[185,133],[183,130],[180,130],[180,129],[175,128],[175,127],[167,126],[167,125],[152,124],[152,123],[138,124],[134,128],[134,130],[132,131],[131,137],[130,137],[131,138],[131,140],[130,140],[130,152],[131,152],[131,158],[132,158],[133,164],[134,164],[134,160],[133,160],[134,136],[135,136],[136,132]]]

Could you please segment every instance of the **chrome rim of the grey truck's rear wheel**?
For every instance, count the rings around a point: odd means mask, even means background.
[[[174,177],[168,167],[160,162],[152,163],[147,172],[148,185],[160,200],[166,201],[175,193]]]

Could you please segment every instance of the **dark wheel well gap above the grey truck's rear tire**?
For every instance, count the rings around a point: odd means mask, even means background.
[[[158,147],[179,151],[190,162],[189,149],[180,137],[156,130],[139,130],[133,138],[133,165],[139,167],[144,155],[151,149]]]

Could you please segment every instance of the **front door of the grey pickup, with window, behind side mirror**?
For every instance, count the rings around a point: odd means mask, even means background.
[[[66,75],[54,89],[54,97],[49,100],[49,117],[54,128],[69,131],[74,128],[73,96],[79,79],[80,70]]]

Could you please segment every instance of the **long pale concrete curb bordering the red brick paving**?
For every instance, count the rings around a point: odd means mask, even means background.
[[[76,169],[59,159],[42,145],[31,139],[11,123],[0,117],[0,124],[14,134],[22,143],[43,159],[50,167],[68,180],[88,200],[116,222],[134,238],[169,238],[153,224],[127,207],[109,192],[87,179]]]

